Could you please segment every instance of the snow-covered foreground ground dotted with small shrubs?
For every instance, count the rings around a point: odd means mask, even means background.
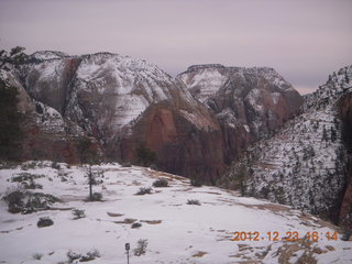
[[[30,164],[30,165],[29,165]],[[94,167],[103,172],[102,184],[94,191],[103,201],[87,202],[87,177],[81,167],[52,168],[51,162],[33,163],[0,169],[0,195],[3,196],[21,173],[44,175],[36,178],[42,191],[61,202],[52,210],[30,215],[9,213],[0,204],[0,263],[68,263],[67,252],[85,254],[94,249],[101,257],[90,263],[127,263],[124,244],[131,244],[130,263],[351,263],[351,242],[328,241],[326,232],[336,227],[289,207],[254,198],[239,197],[234,191],[217,187],[193,187],[183,177],[143,167],[105,164]],[[23,170],[25,169],[25,170]],[[135,195],[151,187],[157,178],[166,178],[169,187],[154,188],[152,194]],[[197,199],[200,206],[187,205]],[[86,218],[74,220],[72,208],[85,210]],[[54,224],[37,228],[41,217]],[[131,228],[132,222],[142,226]],[[234,232],[258,232],[258,241],[233,241]],[[267,232],[277,231],[279,241],[268,241]],[[297,231],[300,240],[283,240],[286,232]],[[319,241],[301,239],[317,231]],[[146,253],[133,255],[138,241],[147,240]],[[42,254],[35,260],[34,254]]]

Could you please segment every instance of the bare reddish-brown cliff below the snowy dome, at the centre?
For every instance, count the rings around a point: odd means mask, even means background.
[[[162,170],[200,176],[212,184],[224,172],[220,127],[201,105],[191,111],[163,102],[151,106],[131,129],[114,139],[108,155],[135,161],[141,142],[157,154]]]

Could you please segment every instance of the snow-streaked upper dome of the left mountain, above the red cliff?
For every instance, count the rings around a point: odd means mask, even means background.
[[[191,96],[145,61],[111,53],[37,52],[18,74],[29,94],[107,141],[151,103]]]

